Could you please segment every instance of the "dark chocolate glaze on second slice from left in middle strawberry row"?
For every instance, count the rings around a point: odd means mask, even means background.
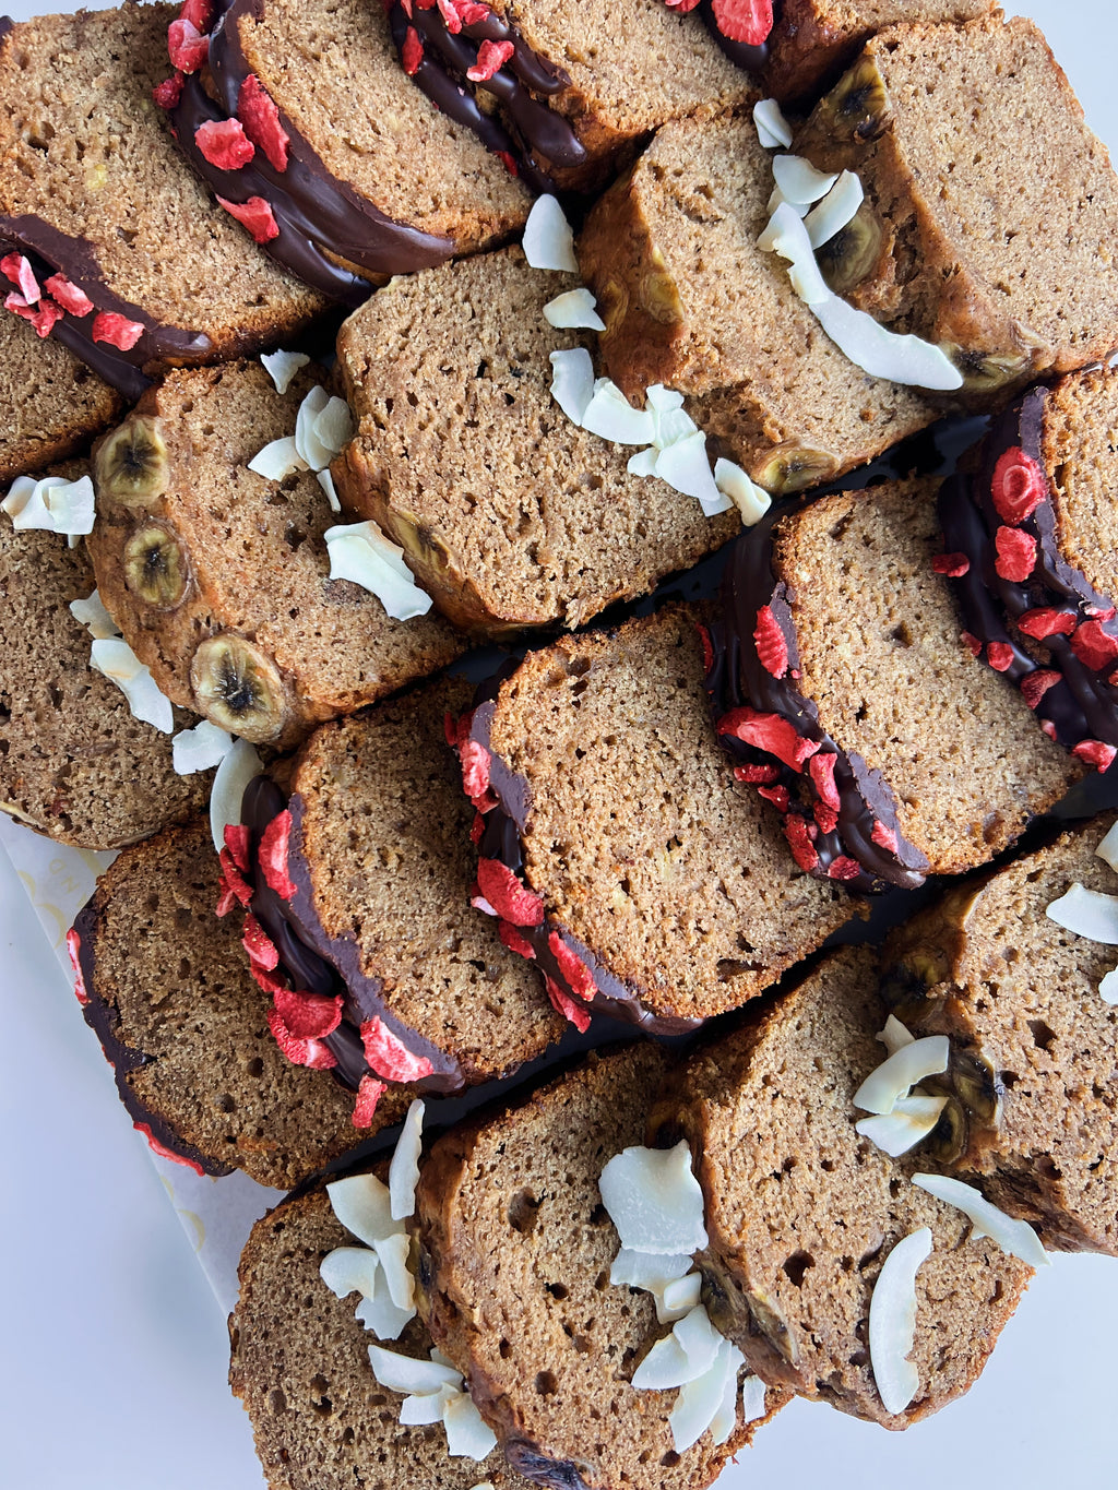
[[[285,808],[291,811],[292,820],[288,875],[295,885],[295,895],[289,901],[276,894],[258,869],[261,836]],[[249,909],[276,943],[280,957],[277,971],[286,976],[294,989],[307,989],[328,998],[341,994],[341,1024],[322,1040],[338,1062],[332,1067],[332,1076],[343,1086],[356,1091],[364,1076],[377,1074],[365,1059],[361,1025],[367,1019],[382,1019],[413,1055],[426,1056],[434,1067],[429,1076],[408,1082],[408,1086],[414,1086],[416,1092],[461,1091],[465,1076],[459,1062],[392,1013],[382,998],[382,980],[368,977],[361,970],[356,940],[352,936],[326,934],[315,910],[310,866],[301,852],[304,811],[303,797],[295,793],[288,800],[270,776],[255,776],[244,788],[241,821],[250,834],[246,878],[253,888]]]

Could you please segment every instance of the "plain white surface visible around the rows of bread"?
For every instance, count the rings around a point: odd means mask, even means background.
[[[1115,0],[1015,9],[1118,155]],[[3,854],[0,1028],[0,1486],[259,1490],[224,1320]],[[1118,1262],[1057,1258],[963,1402],[903,1435],[796,1402],[720,1490],[1112,1486],[1117,1405]]]

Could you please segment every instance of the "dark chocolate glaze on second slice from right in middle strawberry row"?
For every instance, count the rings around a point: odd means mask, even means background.
[[[756,526],[744,529],[730,554],[721,589],[723,617],[711,627],[713,662],[707,691],[717,718],[742,706],[759,714],[778,714],[800,739],[815,741],[821,754],[835,755],[835,787],[839,796],[836,827],[823,831],[814,821],[812,809],[820,797],[806,770],[798,775],[790,766],[730,735],[719,735],[719,741],[738,761],[778,767],[778,782],[790,796],[789,814],[805,818],[817,830],[812,848],[818,863],[811,870],[817,879],[830,879],[827,870],[842,857],[862,866],[860,875],[842,881],[848,890],[878,893],[887,885],[915,890],[924,882],[929,861],[902,834],[888,782],[862,755],[842,751],[835,744],[818,721],[814,700],[796,687],[799,650],[790,603],[795,596],[772,572],[775,519],[777,514],[769,513]],[[766,605],[789,651],[789,669],[783,678],[774,678],[763,666],[753,636],[757,611]],[[896,836],[894,851],[874,840],[877,824]]]

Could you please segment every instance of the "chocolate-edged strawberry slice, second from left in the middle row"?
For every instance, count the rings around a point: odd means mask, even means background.
[[[537,971],[470,904],[473,809],[446,739],[470,691],[444,678],[323,726],[286,791],[258,778],[244,794],[246,946],[262,986],[286,977],[309,1000],[277,1003],[276,1036],[359,1110],[385,1082],[447,1092],[504,1076],[562,1033]]]

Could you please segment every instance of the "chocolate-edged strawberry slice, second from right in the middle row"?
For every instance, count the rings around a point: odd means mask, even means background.
[[[912,888],[988,863],[1081,775],[976,668],[932,478],[824,496],[742,533],[714,627],[719,735],[798,863]]]

